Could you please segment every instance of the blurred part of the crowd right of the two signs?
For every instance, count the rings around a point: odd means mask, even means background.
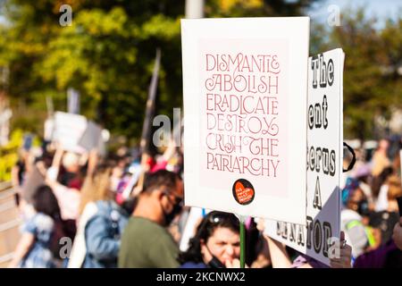
[[[381,139],[373,150],[356,148],[355,167],[344,173],[341,228],[356,268],[402,267],[401,143],[397,137]],[[349,160],[344,156],[345,166]]]

